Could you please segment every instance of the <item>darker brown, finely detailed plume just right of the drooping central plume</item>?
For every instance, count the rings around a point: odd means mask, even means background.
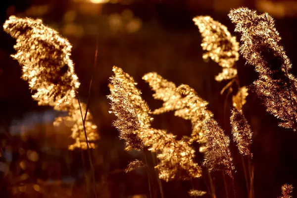
[[[206,149],[204,152],[203,165],[211,171],[224,170],[227,175],[233,178],[234,166],[229,149],[230,139],[224,134],[214,119],[203,122],[206,138]]]

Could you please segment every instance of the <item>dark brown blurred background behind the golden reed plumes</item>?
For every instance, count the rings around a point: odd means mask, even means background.
[[[141,79],[145,73],[155,71],[177,85],[189,84],[209,102],[209,110],[230,135],[232,96],[220,94],[226,81],[214,80],[221,67],[202,60],[201,37],[192,18],[210,15],[237,35],[227,14],[240,6],[266,11],[275,18],[282,45],[293,63],[292,72],[297,74],[296,0],[1,0],[0,22],[3,24],[10,15],[38,17],[69,39],[83,102],[88,100],[94,74],[90,110],[100,135],[98,147],[92,150],[98,197],[148,198],[146,171],[124,172],[129,161],[142,160],[142,155],[125,151],[123,140],[112,126],[115,117],[108,113],[106,99],[112,66],[122,67],[139,82],[151,109],[160,107],[161,102],[153,100],[153,92]],[[68,145],[73,143],[70,128],[66,124],[52,126],[61,113],[33,101],[28,83],[20,79],[21,66],[10,58],[14,44],[15,40],[0,28],[0,198],[88,197],[92,188],[87,151],[69,151]],[[237,68],[242,86],[257,78],[253,67],[242,58]],[[278,120],[265,112],[254,93],[249,93],[244,113],[254,132],[255,198],[281,196],[285,183],[297,187],[297,133],[279,128]],[[191,134],[191,122],[173,113],[156,116],[153,125],[179,138]],[[233,144],[231,151],[237,170],[237,197],[245,198],[241,156]],[[197,161],[202,160],[197,152]],[[214,176],[217,197],[223,198],[221,174]],[[206,190],[201,179],[192,184],[162,181],[164,197],[187,198],[192,185]],[[153,197],[160,198],[156,180],[152,187]]]

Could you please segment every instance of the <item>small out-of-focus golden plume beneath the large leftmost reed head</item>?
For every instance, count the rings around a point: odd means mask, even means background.
[[[56,107],[58,107],[56,109]],[[56,106],[54,109],[59,111],[68,111],[68,116],[58,117],[54,121],[54,126],[60,125],[61,121],[67,121],[73,123],[71,127],[71,137],[75,140],[75,142],[70,145],[69,150],[74,150],[75,148],[81,148],[86,150],[88,148],[86,142],[86,136],[83,126],[83,120],[81,117],[81,111],[79,107],[79,103],[77,99],[72,99],[70,104],[61,104],[60,106]],[[86,112],[87,105],[81,102],[81,108],[83,114]],[[99,134],[97,133],[97,126],[92,122],[93,116],[91,112],[88,110],[88,114],[85,121],[85,128],[87,132],[87,137],[89,141],[90,148],[96,148],[95,141],[99,139]]]

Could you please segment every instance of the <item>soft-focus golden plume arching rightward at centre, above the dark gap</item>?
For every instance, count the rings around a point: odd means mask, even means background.
[[[153,111],[153,114],[161,114],[175,111],[175,116],[192,122],[191,141],[203,143],[202,122],[213,114],[207,110],[208,102],[198,97],[196,91],[189,85],[182,84],[178,87],[173,82],[167,81],[157,73],[151,72],[143,76],[155,93],[154,99],[163,100],[163,106]]]

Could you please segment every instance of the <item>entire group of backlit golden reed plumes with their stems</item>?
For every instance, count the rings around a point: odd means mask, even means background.
[[[297,80],[290,73],[291,62],[282,46],[281,37],[275,29],[274,20],[268,13],[258,14],[248,8],[233,9],[229,17],[236,24],[235,31],[242,34],[241,45],[232,36],[227,27],[210,16],[197,16],[193,19],[202,36],[203,59],[211,59],[222,67],[215,80],[226,81],[221,94],[232,94],[233,110],[230,124],[233,142],[242,155],[247,197],[254,198],[253,154],[251,151],[253,132],[243,112],[248,91],[255,91],[262,99],[268,112],[281,120],[279,126],[297,130]],[[58,111],[68,111],[67,117],[57,118],[54,125],[63,120],[73,122],[71,137],[75,143],[69,149],[91,149],[96,147],[99,135],[97,126],[92,122],[88,104],[79,101],[77,89],[80,85],[70,59],[71,44],[58,32],[47,27],[40,19],[18,18],[11,16],[3,25],[4,30],[16,39],[16,54],[12,55],[22,66],[22,78],[27,80],[33,99],[39,105],[49,105]],[[236,62],[240,54],[247,64],[254,66],[259,78],[249,87],[240,86]],[[230,137],[214,120],[207,109],[208,103],[198,96],[196,91],[186,84],[179,86],[164,79],[155,72],[147,73],[143,79],[154,91],[153,98],[163,101],[162,107],[150,110],[142,98],[141,90],[128,73],[113,66],[114,75],[110,77],[110,113],[117,120],[113,125],[119,131],[119,137],[126,142],[126,150],[143,152],[145,159],[148,151],[155,153],[157,165],[153,171],[158,179],[201,180],[204,179],[207,190],[189,190],[194,197],[216,198],[213,171],[221,171],[232,181],[234,192],[228,192],[224,182],[226,197],[236,197],[234,176],[236,168],[230,151]],[[234,93],[232,87],[237,86]],[[192,123],[191,136],[178,139],[166,130],[151,126],[154,115],[173,111],[174,115]],[[198,143],[199,149],[193,147]],[[204,156],[202,163],[196,162],[195,153]],[[129,163],[126,172],[146,168],[148,184],[151,169],[147,160],[135,160]],[[207,171],[202,171],[207,170]],[[206,174],[205,174],[206,173]],[[159,183],[163,198],[162,186]],[[149,185],[150,197],[151,186]],[[281,198],[291,198],[293,186],[284,184]]]

